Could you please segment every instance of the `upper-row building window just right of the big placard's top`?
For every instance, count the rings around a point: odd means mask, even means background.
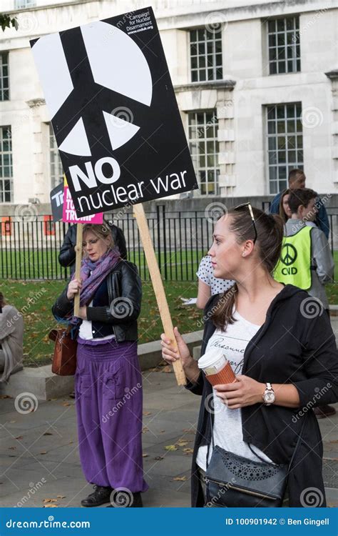
[[[191,81],[221,80],[222,32],[190,30]]]

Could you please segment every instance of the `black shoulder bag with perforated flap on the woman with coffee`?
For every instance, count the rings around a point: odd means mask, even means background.
[[[250,450],[261,462],[253,462],[215,445],[210,414],[212,455],[208,463],[209,444],[205,474],[206,506],[281,507],[287,487],[287,477],[302,440],[305,420],[306,417],[290,464],[275,465],[263,460],[250,445]]]

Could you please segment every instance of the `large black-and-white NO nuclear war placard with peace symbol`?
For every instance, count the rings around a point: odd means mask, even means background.
[[[79,217],[198,188],[150,7],[31,46]]]

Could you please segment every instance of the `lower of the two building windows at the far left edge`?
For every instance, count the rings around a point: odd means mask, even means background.
[[[0,203],[12,202],[11,127],[0,126]]]

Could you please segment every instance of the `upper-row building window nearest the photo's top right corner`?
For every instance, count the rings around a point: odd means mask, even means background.
[[[300,71],[299,16],[267,22],[270,74]]]

